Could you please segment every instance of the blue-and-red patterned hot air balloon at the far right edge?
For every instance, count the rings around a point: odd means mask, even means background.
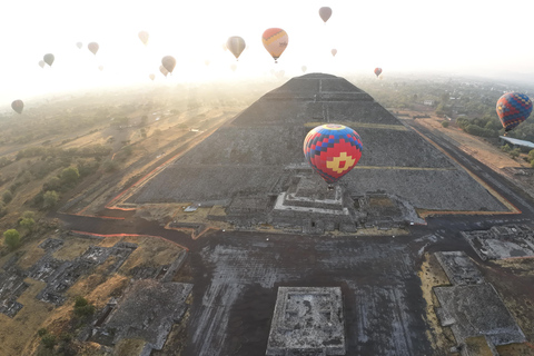
[[[497,101],[497,115],[507,132],[525,121],[532,112],[531,99],[521,92],[507,92]]]

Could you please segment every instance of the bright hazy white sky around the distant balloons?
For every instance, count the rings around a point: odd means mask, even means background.
[[[326,24],[320,7],[333,10]],[[293,77],[303,66],[370,77],[382,67],[385,78],[402,71],[533,73],[533,10],[532,0],[8,0],[0,23],[0,107],[66,89],[254,79],[273,69]],[[289,36],[278,65],[261,43],[271,27]],[[148,46],[139,31],[149,32]],[[238,62],[222,49],[230,36],[248,46]],[[97,56],[87,49],[91,41],[100,44]],[[56,61],[41,69],[46,53]],[[159,72],[167,55],[178,61],[171,78]]]

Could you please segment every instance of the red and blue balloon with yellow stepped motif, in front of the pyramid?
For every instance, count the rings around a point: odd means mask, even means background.
[[[356,166],[362,148],[359,135],[337,123],[317,126],[304,139],[304,156],[328,189]]]

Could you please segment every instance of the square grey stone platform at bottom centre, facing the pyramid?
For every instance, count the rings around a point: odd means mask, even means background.
[[[339,287],[279,287],[266,355],[345,355]]]

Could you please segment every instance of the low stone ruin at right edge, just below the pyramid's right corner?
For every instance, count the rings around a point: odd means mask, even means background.
[[[493,226],[462,236],[482,260],[534,256],[534,231],[526,225]]]

